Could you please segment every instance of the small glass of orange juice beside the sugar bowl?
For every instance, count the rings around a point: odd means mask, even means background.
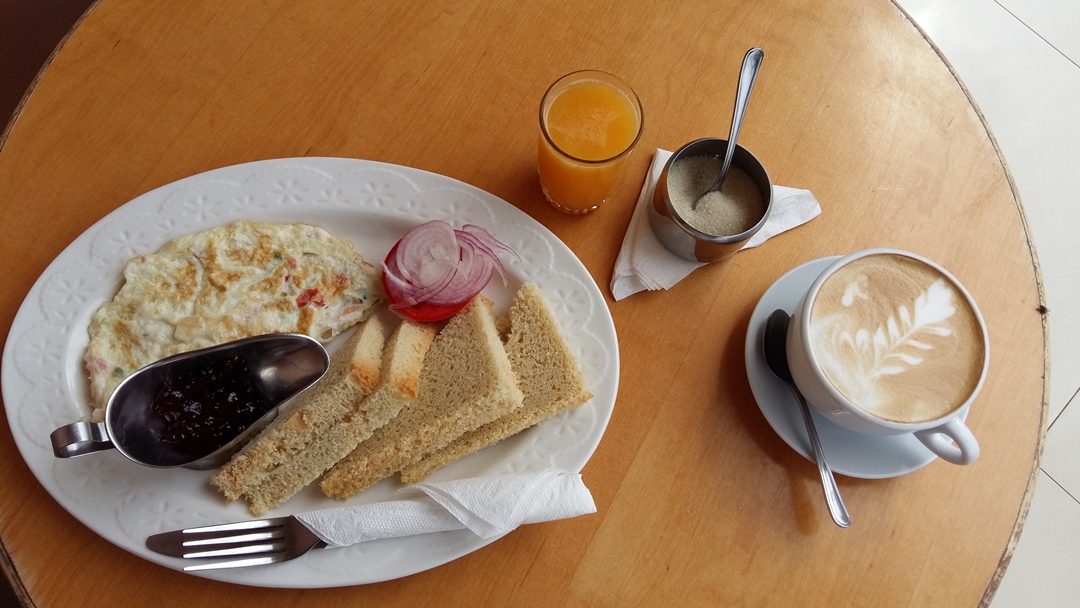
[[[610,73],[570,72],[540,103],[537,170],[556,208],[595,211],[615,189],[642,136],[645,117],[634,90]]]

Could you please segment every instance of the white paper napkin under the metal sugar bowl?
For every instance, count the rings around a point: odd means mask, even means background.
[[[652,233],[649,225],[649,205],[652,204],[652,192],[660,179],[664,163],[672,152],[657,149],[652,157],[649,175],[645,186],[637,197],[634,217],[626,228],[622,239],[622,248],[615,262],[615,273],[611,276],[611,295],[621,300],[643,289],[669,289],[672,285],[685,279],[694,270],[705,266],[703,262],[689,261],[667,251],[663,243]],[[821,214],[818,199],[809,190],[772,187],[772,213],[761,230],[757,232],[743,249],[756,247],[768,239],[806,224]]]

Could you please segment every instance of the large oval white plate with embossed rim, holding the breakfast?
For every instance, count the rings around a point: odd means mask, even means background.
[[[240,501],[225,503],[208,485],[206,471],[144,468],[116,450],[62,460],[53,457],[49,444],[53,429],[89,411],[82,367],[86,325],[97,307],[119,288],[124,262],[174,237],[237,219],[322,226],[350,239],[373,264],[380,262],[404,232],[428,219],[489,229],[522,259],[508,265],[507,287],[492,281],[485,295],[501,312],[522,283],[539,284],[595,396],[570,413],[444,468],[432,479],[546,467],[579,472],[592,456],[615,406],[619,344],[604,296],[558,238],[505,201],[441,175],[351,159],[261,161],[181,179],[112,212],[57,256],[15,316],[2,369],[12,434],[41,485],[96,533],[140,557],[179,569],[183,560],[147,550],[146,537],[251,518]],[[386,500],[399,485],[383,481],[351,501]],[[274,514],[340,504],[313,486]],[[362,584],[433,568],[489,542],[457,530],[315,551],[285,564],[200,576],[259,586]]]

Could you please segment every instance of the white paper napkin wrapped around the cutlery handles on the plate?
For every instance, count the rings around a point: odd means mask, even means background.
[[[561,469],[406,486],[394,500],[296,514],[330,546],[469,528],[483,539],[522,524],[596,513],[581,475]]]

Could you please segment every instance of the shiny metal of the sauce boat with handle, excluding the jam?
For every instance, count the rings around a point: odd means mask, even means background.
[[[170,447],[163,441],[162,417],[152,407],[160,389],[177,377],[218,368],[229,357],[232,361],[239,357],[245,364],[247,371],[234,380],[238,384],[246,382],[245,387],[260,397],[266,411],[208,452]],[[49,435],[53,454],[57,458],[73,458],[116,448],[146,467],[214,469],[273,420],[285,402],[315,383],[328,368],[326,349],[302,334],[267,334],[176,354],[124,378],[109,397],[104,422],[75,422],[53,431]]]

